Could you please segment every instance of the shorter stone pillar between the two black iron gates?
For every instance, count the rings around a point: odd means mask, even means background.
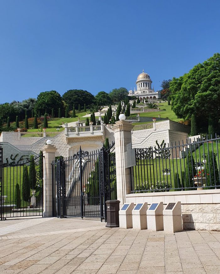
[[[43,216],[52,217],[52,161],[57,148],[54,145],[43,147]]]

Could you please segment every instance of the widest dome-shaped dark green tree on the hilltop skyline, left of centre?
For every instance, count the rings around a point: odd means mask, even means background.
[[[67,90],[63,96],[63,100],[69,105],[78,109],[78,106],[91,105],[95,102],[95,97],[86,90]]]

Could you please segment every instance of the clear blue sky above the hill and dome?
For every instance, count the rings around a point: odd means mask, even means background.
[[[220,52],[220,1],[0,1],[0,103],[163,79]]]

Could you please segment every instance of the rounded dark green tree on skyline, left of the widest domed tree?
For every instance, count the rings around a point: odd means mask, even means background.
[[[47,109],[47,112],[51,113],[52,108],[54,108],[55,113],[58,112],[59,108],[63,110],[63,102],[60,94],[56,90],[41,92],[37,96],[35,112],[38,113],[40,110],[40,113],[44,114],[45,109]]]

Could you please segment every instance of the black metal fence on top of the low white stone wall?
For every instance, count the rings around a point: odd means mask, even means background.
[[[135,149],[132,193],[220,188],[220,138]]]

